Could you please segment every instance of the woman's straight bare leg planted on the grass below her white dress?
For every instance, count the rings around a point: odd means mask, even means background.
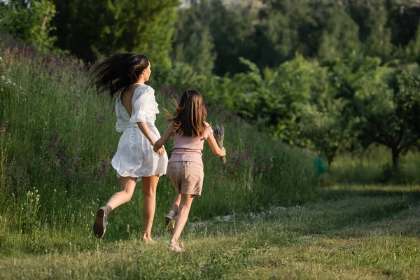
[[[156,187],[159,176],[143,177],[143,239],[152,241],[151,231],[156,208]]]

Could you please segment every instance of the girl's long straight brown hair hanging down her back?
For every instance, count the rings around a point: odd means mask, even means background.
[[[206,130],[207,110],[202,94],[198,90],[186,90],[179,104],[174,99],[175,112],[169,115],[175,132],[186,137],[202,137]]]

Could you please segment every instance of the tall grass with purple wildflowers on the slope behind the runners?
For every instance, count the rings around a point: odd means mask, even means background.
[[[4,42],[3,42],[4,43]],[[120,134],[113,101],[87,88],[85,65],[9,45],[0,50],[0,251],[44,253],[94,248],[97,207],[119,190],[110,162]],[[166,83],[151,81],[162,108],[171,109]],[[311,155],[269,140],[256,127],[209,105],[209,122],[225,126],[228,163],[204,147],[204,190],[190,216],[208,218],[297,204],[314,197]],[[162,113],[156,125],[165,130]],[[171,145],[167,145],[170,153]],[[141,187],[141,184],[138,185]],[[153,235],[175,191],[160,179]],[[141,192],[109,218],[105,240],[141,232]]]

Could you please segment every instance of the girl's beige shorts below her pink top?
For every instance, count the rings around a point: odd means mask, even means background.
[[[204,181],[202,165],[195,162],[169,162],[167,176],[184,195],[201,195]]]

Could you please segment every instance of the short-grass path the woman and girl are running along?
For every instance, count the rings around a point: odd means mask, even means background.
[[[420,188],[323,190],[317,202],[190,223],[185,253],[128,240],[0,258],[0,279],[420,279]]]

